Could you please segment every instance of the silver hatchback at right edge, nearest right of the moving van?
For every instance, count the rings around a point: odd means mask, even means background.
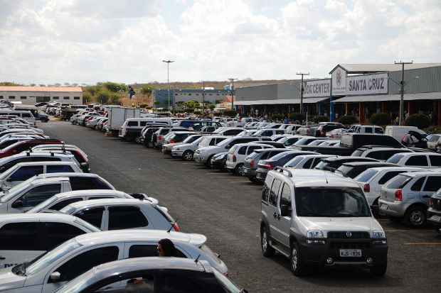
[[[381,187],[380,214],[420,227],[427,219],[429,199],[441,188],[440,172],[402,173]]]

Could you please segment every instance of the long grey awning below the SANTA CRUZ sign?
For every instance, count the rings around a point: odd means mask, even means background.
[[[334,100],[334,103],[351,103],[359,101],[400,101],[400,94],[375,94],[371,96],[345,96]],[[426,92],[418,94],[404,94],[405,101],[415,100],[439,100],[441,92]]]

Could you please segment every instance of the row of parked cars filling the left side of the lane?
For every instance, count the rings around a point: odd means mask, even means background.
[[[1,142],[44,136],[1,149],[1,290],[241,292],[206,237],[181,232],[157,199],[116,190],[90,173],[83,150],[35,126],[0,117],[0,128]],[[171,258],[157,257],[164,238]]]

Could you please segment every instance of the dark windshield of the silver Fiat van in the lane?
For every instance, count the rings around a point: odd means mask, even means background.
[[[355,187],[297,187],[297,216],[368,217],[371,212],[361,189]]]

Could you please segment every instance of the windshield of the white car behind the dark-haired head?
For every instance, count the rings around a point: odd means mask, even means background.
[[[70,241],[66,241],[65,243],[59,245],[57,248],[43,255],[43,257],[29,262],[29,264],[26,265],[26,275],[33,275],[36,272],[39,272],[43,269],[43,267],[48,267],[48,265],[51,265],[51,263],[60,258],[63,258],[65,255],[68,255],[81,246],[83,245],[78,243],[75,238],[70,239]]]

